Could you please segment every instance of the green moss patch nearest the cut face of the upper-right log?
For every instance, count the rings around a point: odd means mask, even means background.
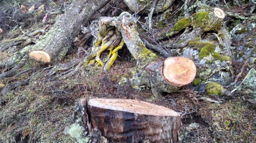
[[[194,16],[194,19],[193,19],[193,25],[195,25],[196,28],[198,28],[198,27],[204,28],[205,23],[207,23],[209,21],[209,13],[210,12],[196,13],[196,15]]]

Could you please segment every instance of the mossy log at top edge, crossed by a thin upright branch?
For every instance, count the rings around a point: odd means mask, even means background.
[[[148,0],[124,0],[125,4],[129,7],[132,12],[139,12],[140,14],[150,13],[152,2]],[[154,13],[159,13],[167,10],[174,0],[159,0],[155,6]]]

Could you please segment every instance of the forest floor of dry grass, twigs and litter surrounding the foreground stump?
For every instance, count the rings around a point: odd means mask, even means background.
[[[42,4],[47,6],[47,3]],[[44,26],[39,23],[30,29],[43,29]],[[11,30],[0,35],[0,42],[18,36],[17,31]],[[81,33],[77,38],[83,39],[83,36]],[[8,85],[31,77],[29,84],[0,95],[0,142],[76,142],[63,131],[74,123],[77,100],[85,97],[137,99],[180,112],[183,114],[182,125],[187,130],[184,142],[256,141],[256,104],[248,102],[252,97],[242,91],[234,92],[232,99],[211,103],[198,100],[205,94],[189,88],[155,98],[150,89],[119,86],[122,77],[133,71],[136,65],[136,60],[128,58],[130,53],[126,47],[120,50],[108,72],[80,70],[66,79],[56,76],[65,71],[45,76],[51,67],[81,58],[77,55],[80,44],[79,40],[75,41],[59,63],[43,64],[29,59],[16,76],[0,79],[0,83]],[[242,64],[233,62],[234,75],[239,73]],[[255,65],[253,67],[256,69]],[[248,71],[245,67],[239,80],[243,80]],[[1,90],[0,87],[0,93]]]

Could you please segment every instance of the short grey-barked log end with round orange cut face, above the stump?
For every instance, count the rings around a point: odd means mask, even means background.
[[[157,97],[164,92],[177,92],[193,82],[196,65],[185,57],[169,57],[145,67],[152,93]]]

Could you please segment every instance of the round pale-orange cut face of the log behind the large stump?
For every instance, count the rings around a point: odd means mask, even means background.
[[[174,85],[184,86],[191,83],[196,76],[196,65],[185,57],[170,57],[163,62],[162,75]]]

